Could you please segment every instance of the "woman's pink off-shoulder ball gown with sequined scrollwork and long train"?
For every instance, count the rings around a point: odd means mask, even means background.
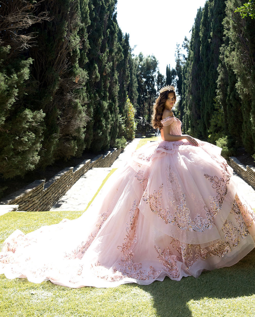
[[[181,135],[175,117],[162,120]],[[3,244],[0,273],[72,288],[197,277],[254,248],[255,216],[217,146],[151,142],[115,171],[84,214]],[[86,193],[84,193],[86,195]]]

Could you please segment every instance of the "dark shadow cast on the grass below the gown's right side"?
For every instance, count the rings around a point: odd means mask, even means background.
[[[152,295],[158,316],[191,317],[187,305],[191,299],[235,298],[255,293],[255,249],[231,267],[203,272],[198,278],[183,277],[181,281],[167,277],[163,282],[140,288]]]

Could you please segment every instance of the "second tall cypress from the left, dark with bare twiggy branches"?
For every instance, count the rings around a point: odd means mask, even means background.
[[[87,120],[81,93],[87,74],[78,64],[82,45],[78,33],[84,28],[79,1],[42,2],[42,10],[46,9],[53,20],[32,29],[38,34],[38,46],[30,50],[34,59],[33,76],[39,83],[39,93],[34,99],[46,113],[41,166],[52,164],[55,159],[79,156],[84,149]]]

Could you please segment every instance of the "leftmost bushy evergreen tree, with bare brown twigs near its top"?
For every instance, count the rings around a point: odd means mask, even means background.
[[[38,85],[31,76],[28,49],[36,44],[29,25],[49,20],[40,3],[1,4],[0,20],[0,178],[23,176],[39,161],[43,139],[42,110],[31,102]],[[40,17],[37,12],[40,11]],[[13,17],[10,22],[9,18]],[[0,184],[0,192],[5,188]]]

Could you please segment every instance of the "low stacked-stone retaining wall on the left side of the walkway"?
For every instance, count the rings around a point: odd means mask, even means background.
[[[50,210],[54,203],[62,197],[78,179],[92,167],[110,167],[123,148],[113,149],[94,159],[84,160],[75,167],[67,167],[45,183],[36,180],[20,191],[0,201],[2,205],[19,205],[22,211]]]

